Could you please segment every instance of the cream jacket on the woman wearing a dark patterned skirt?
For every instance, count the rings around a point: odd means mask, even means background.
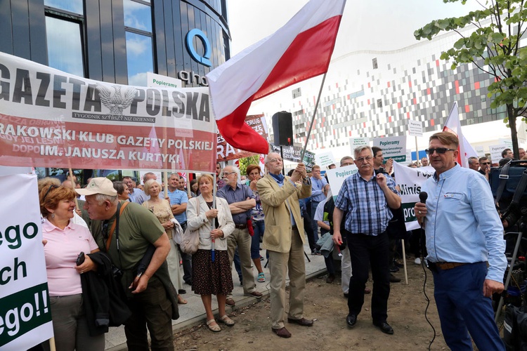
[[[200,203],[200,216],[197,216],[196,201]],[[227,250],[226,238],[234,232],[233,216],[230,214],[229,205],[226,199],[216,197],[216,208],[218,209],[218,223],[219,229],[223,231],[223,238],[216,239],[214,242],[215,250]],[[200,195],[189,199],[187,203],[187,225],[188,230],[199,230],[200,232],[200,246],[199,249],[212,249],[212,241],[210,239],[210,232],[214,229],[214,220],[209,220],[205,212],[209,211],[207,202]]]

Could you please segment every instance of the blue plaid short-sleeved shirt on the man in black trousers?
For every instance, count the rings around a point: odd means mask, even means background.
[[[395,182],[389,176],[386,176],[386,185],[398,194]],[[348,211],[345,228],[353,234],[379,235],[386,230],[393,217],[384,192],[377,185],[375,173],[367,181],[359,173],[346,178],[335,200],[335,206]]]

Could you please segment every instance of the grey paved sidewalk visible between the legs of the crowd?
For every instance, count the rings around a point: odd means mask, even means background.
[[[306,240],[307,241],[307,240]],[[311,260],[311,263],[306,259],[306,279],[317,276],[325,272],[325,263],[323,256],[314,256],[311,255],[311,250],[309,246],[304,246],[304,251],[306,252],[308,258]],[[262,267],[267,262],[265,258],[266,251],[260,251],[261,256],[264,257],[262,261]],[[253,266],[254,279],[256,281],[256,268]],[[269,270],[268,268],[263,268],[263,272],[266,274],[266,282],[258,283],[256,282],[256,290],[263,293],[263,297],[268,296],[269,294]],[[181,274],[183,274],[183,268],[181,267]],[[289,281],[287,281],[289,282]],[[229,313],[238,308],[245,307],[254,301],[258,300],[249,296],[243,295],[243,288],[240,286],[240,280],[238,279],[238,272],[234,270],[233,265],[233,299],[235,300],[236,305],[234,307],[228,307],[226,312]],[[182,295],[188,303],[186,305],[179,305],[179,318],[175,321],[172,321],[172,329],[174,333],[180,331],[181,329],[187,329],[190,326],[195,326],[197,324],[203,324],[205,321],[205,310],[201,301],[201,297],[193,293],[192,289],[188,284],[183,284],[183,289],[187,291],[186,294]],[[212,297],[212,309],[214,314],[217,314],[218,304],[216,303],[216,297]],[[118,328],[110,328],[110,331],[106,334],[106,350],[109,351],[118,351],[126,350],[126,338],[124,336],[124,327],[120,326]]]

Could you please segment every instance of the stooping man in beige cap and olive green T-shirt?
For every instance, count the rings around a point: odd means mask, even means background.
[[[93,178],[76,191],[86,197],[84,209],[98,246],[122,272],[120,280],[132,312],[124,324],[129,350],[148,350],[147,327],[152,350],[174,350],[171,319],[178,317],[177,292],[167,284],[170,244],[164,228],[147,208],[119,201],[108,178]],[[137,272],[150,246],[155,247],[150,263],[143,273]]]

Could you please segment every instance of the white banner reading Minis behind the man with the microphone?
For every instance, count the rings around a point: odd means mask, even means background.
[[[396,174],[396,183],[401,187],[401,206],[405,216],[406,230],[419,229],[415,217],[414,206],[419,201],[419,193],[424,182],[434,176],[436,170],[431,167],[410,168],[393,162],[393,172]]]

